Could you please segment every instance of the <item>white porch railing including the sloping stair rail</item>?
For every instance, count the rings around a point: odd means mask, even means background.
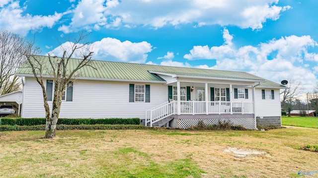
[[[181,101],[180,114],[253,114],[252,102],[226,102],[226,101]],[[206,104],[208,106],[206,107]],[[206,111],[206,109],[208,109]],[[145,125],[177,114],[177,102],[165,102],[155,108],[146,111]]]

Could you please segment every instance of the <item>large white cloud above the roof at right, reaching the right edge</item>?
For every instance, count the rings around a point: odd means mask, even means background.
[[[311,88],[318,79],[318,66],[308,62],[318,61],[318,54],[308,50],[318,46],[310,36],[281,37],[255,47],[243,46],[235,48],[233,36],[225,29],[223,32],[225,43],[221,46],[194,46],[185,59],[216,59],[216,65],[199,65],[198,68],[220,70],[247,71],[257,76],[278,82],[282,77],[293,76],[302,81],[304,88]],[[314,71],[313,71],[314,70]]]

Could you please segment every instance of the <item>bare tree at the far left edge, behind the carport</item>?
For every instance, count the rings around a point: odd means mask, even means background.
[[[0,95],[19,89],[16,69],[33,50],[33,43],[8,31],[0,31]]]

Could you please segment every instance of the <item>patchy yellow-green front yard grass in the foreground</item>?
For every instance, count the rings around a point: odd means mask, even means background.
[[[0,177],[277,178],[318,171],[318,129],[0,132]],[[267,152],[236,157],[229,147]],[[313,176],[318,177],[318,174]]]

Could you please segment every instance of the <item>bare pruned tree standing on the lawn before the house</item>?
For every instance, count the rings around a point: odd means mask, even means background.
[[[93,52],[87,46],[88,43],[80,44],[87,37],[85,32],[79,33],[79,39],[71,44],[71,49],[63,49],[64,53],[61,58],[51,56],[49,54],[49,67],[45,67],[39,56],[28,55],[27,61],[32,68],[32,72],[36,81],[41,85],[43,92],[44,108],[45,108],[45,138],[53,138],[56,135],[56,125],[59,119],[59,114],[62,104],[62,95],[65,92],[67,85],[72,84],[76,79],[76,72],[83,66],[91,66],[91,56]],[[80,54],[80,59],[76,66],[71,66],[72,56]],[[92,67],[92,66],[91,66]],[[47,93],[43,82],[43,75],[50,75],[54,82],[54,94],[52,104],[52,114],[48,104]]]

